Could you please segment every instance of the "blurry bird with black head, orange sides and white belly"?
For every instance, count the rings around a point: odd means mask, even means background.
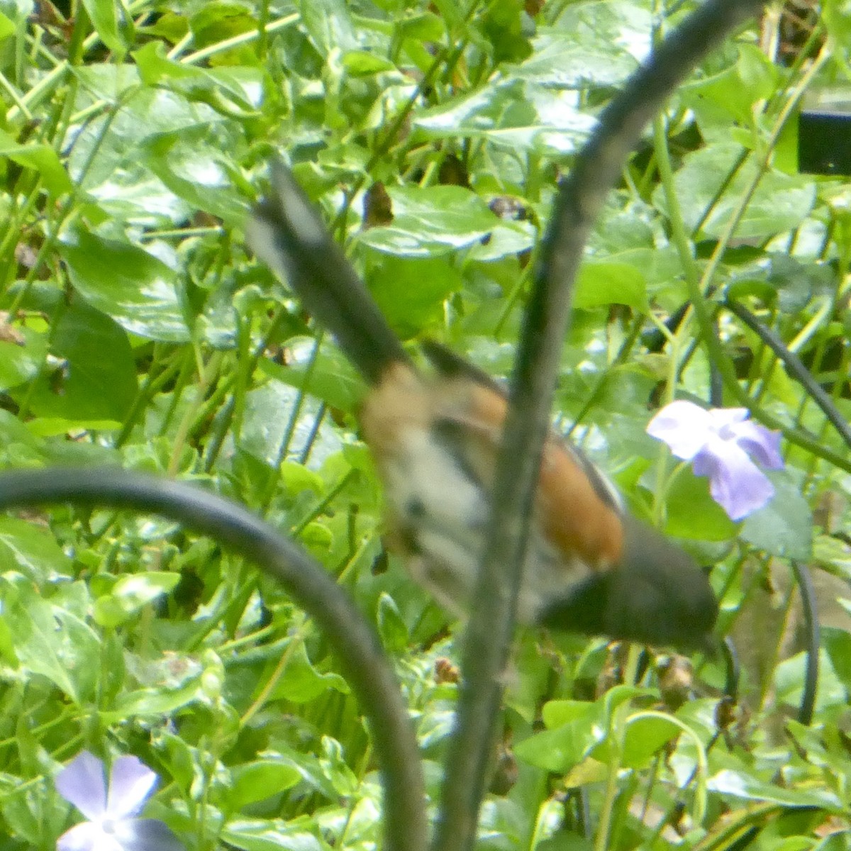
[[[419,368],[292,172],[246,225],[248,247],[333,334],[368,390],[360,430],[385,492],[386,540],[438,603],[471,605],[507,398],[500,383],[436,340]],[[571,443],[545,442],[517,619],[557,631],[680,650],[712,646],[717,599],[679,545],[625,509]]]

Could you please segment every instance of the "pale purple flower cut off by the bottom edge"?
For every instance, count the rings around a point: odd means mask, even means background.
[[[157,783],[157,775],[136,757],[112,763],[108,793],[104,764],[89,751],[69,762],[55,782],[60,795],[89,819],[63,833],[57,851],[184,851],[162,821],[135,818]]]

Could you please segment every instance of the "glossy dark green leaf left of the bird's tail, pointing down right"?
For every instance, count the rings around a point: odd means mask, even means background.
[[[186,342],[175,273],[162,260],[130,243],[77,231],[58,250],[71,283],[83,298],[133,334],[169,343]]]

